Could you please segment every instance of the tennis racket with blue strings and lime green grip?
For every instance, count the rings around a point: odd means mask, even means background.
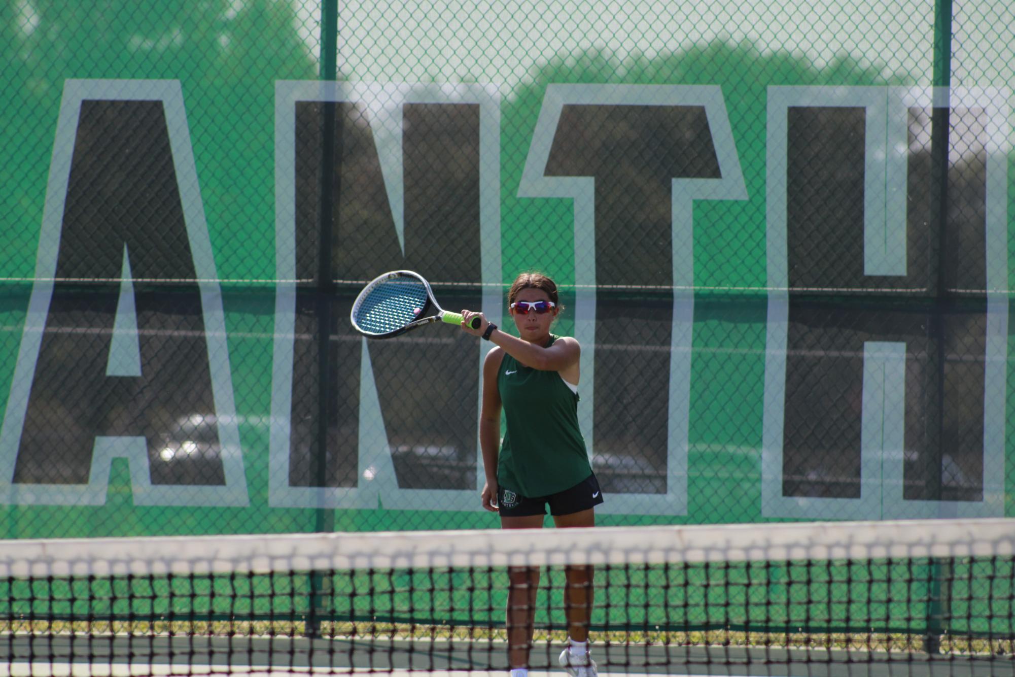
[[[429,282],[411,270],[393,270],[370,280],[352,303],[349,320],[367,338],[391,338],[438,321],[462,324],[462,316],[443,310]],[[473,329],[480,324],[473,318]]]

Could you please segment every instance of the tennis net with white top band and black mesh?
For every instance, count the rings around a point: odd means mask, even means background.
[[[1012,674],[1013,553],[1012,520],[7,541],[0,672],[563,675],[570,624],[600,674]]]

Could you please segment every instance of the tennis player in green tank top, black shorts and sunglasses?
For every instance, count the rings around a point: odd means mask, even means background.
[[[519,275],[507,303],[521,338],[500,331],[481,313],[462,311],[462,328],[495,344],[483,362],[483,507],[500,514],[503,529],[541,528],[547,504],[557,527],[592,527],[603,494],[578,425],[582,347],[569,336],[550,333],[562,309],[557,285],[546,275]],[[481,323],[472,329],[475,317]],[[507,431],[499,442],[501,408]],[[539,568],[512,567],[509,577],[507,662],[512,677],[528,677]],[[560,665],[572,677],[596,677],[589,652],[593,567],[568,566],[565,577],[568,640]]]

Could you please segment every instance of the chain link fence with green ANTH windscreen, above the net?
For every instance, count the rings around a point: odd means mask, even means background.
[[[1015,515],[1001,0],[0,4],[0,535],[483,528],[479,370],[583,345],[601,524]]]

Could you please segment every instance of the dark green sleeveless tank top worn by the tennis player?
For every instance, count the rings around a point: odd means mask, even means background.
[[[550,336],[547,347],[557,336]],[[497,390],[507,431],[497,460],[497,483],[536,497],[569,489],[592,474],[578,425],[578,393],[559,371],[525,366],[504,353]]]

